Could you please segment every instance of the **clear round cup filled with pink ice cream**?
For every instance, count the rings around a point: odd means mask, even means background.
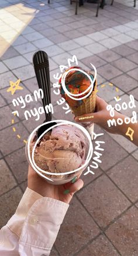
[[[47,182],[65,184],[80,176],[88,166],[92,142],[80,124],[65,120],[56,120],[56,123],[39,138],[39,127],[33,130],[27,140],[26,157],[33,170]]]

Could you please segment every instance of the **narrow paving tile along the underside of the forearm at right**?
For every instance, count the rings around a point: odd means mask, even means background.
[[[122,135],[118,134],[112,134],[110,133],[109,136],[111,136],[115,142],[118,142],[120,146],[123,147],[128,153],[131,153],[133,150],[135,150],[137,147],[132,142],[130,142],[126,137],[123,137]]]

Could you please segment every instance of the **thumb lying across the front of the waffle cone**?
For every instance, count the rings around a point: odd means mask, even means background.
[[[78,123],[87,123],[87,122],[98,123],[98,120],[99,120],[98,112],[82,114],[82,116],[75,117],[75,122],[78,122]]]

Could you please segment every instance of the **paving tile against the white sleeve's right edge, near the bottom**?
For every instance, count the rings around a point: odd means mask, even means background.
[[[99,228],[77,198],[74,197],[60,227],[55,246],[61,255],[64,255],[64,252],[65,255],[73,255],[98,233]],[[70,241],[68,247],[67,240]]]

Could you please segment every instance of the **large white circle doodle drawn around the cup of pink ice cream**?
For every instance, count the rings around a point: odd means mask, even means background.
[[[46,123],[48,124],[48,123],[53,123],[53,122],[55,122],[55,120],[52,120],[52,121],[46,122]],[[28,144],[27,144],[27,151],[28,151],[28,157],[29,157],[30,164],[32,164],[33,169],[37,173],[39,173],[41,176],[43,176],[45,178],[46,178],[46,176],[44,176],[42,173],[46,173],[46,174],[50,174],[50,175],[53,174],[53,175],[58,176],[58,175],[65,175],[65,174],[74,173],[75,171],[79,171],[80,169],[85,168],[88,165],[89,161],[91,160],[92,153],[93,153],[93,146],[92,146],[91,136],[89,135],[89,133],[87,132],[87,130],[84,127],[80,126],[80,124],[76,124],[76,123],[73,123],[73,122],[70,122],[70,121],[67,121],[67,120],[56,120],[56,122],[59,122],[59,123],[55,124],[54,126],[51,126],[44,133],[42,133],[40,135],[40,137],[37,139],[37,141],[36,141],[36,143],[34,144],[34,147],[33,147],[32,159],[30,157],[30,141],[32,139],[33,134],[36,132],[36,130],[39,129],[39,127],[43,126],[46,123],[40,124],[40,126],[37,126],[36,129],[33,130],[33,132],[29,136]],[[81,167],[79,167],[78,169],[75,169],[73,171],[68,171],[68,172],[65,172],[65,173],[51,173],[49,171],[44,171],[44,170],[40,169],[34,161],[34,150],[36,148],[37,143],[39,142],[39,140],[43,137],[43,135],[45,133],[49,132],[49,130],[51,130],[53,127],[56,127],[56,126],[59,126],[59,125],[62,125],[62,124],[72,124],[74,126],[77,126],[87,136],[87,139],[89,140],[89,150],[88,150],[88,154],[87,154],[87,159],[85,160],[85,163]],[[40,171],[42,171],[42,173],[40,173]]]

